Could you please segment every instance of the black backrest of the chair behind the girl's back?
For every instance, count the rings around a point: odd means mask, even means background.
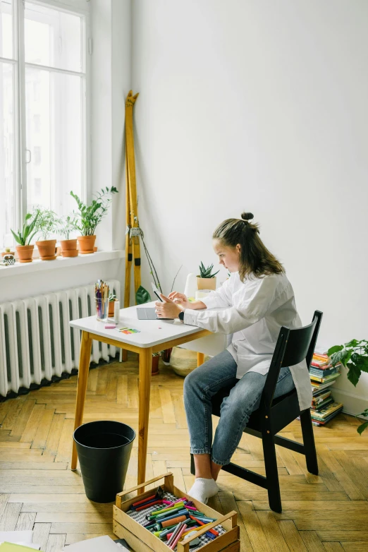
[[[283,366],[294,366],[305,359],[309,368],[322,316],[323,313],[321,311],[314,311],[312,323],[307,326],[296,328],[295,330],[290,330],[284,326],[281,327],[262,393],[261,402],[264,407],[271,407],[278,374]]]

